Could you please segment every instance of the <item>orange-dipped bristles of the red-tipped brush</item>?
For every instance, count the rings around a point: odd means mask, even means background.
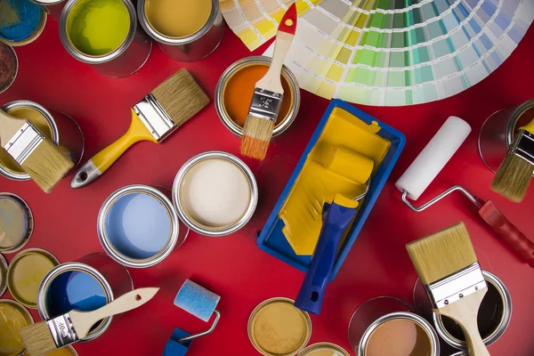
[[[263,161],[271,143],[274,121],[249,115],[241,138],[241,154]]]

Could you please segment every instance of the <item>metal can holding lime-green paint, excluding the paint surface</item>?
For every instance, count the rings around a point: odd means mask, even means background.
[[[69,0],[61,11],[60,37],[67,52],[78,61],[90,64],[97,72],[106,77],[127,77],[141,69],[149,59],[152,41],[142,28],[138,27],[134,4],[130,0],[121,0],[130,16],[130,28],[125,41],[117,49],[103,55],[89,55],[77,50],[69,37],[69,15],[77,4],[89,0]]]

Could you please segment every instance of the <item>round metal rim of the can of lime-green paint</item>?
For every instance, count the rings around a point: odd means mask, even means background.
[[[67,31],[67,20],[69,18],[69,14],[74,8],[74,6],[80,1],[84,0],[68,0],[67,4],[65,4],[65,6],[63,7],[63,10],[61,10],[60,38],[61,44],[63,44],[65,50],[67,50],[67,52],[71,56],[76,58],[78,61],[83,61],[89,64],[107,63],[109,61],[115,60],[122,53],[125,53],[130,44],[132,44],[132,42],[134,41],[135,31],[137,30],[137,14],[135,12],[134,4],[132,4],[130,0],[120,0],[123,4],[125,4],[125,7],[128,11],[128,15],[130,16],[130,28],[128,29],[128,35],[125,37],[123,43],[110,53],[101,56],[93,56],[78,51],[74,44],[70,42],[69,33]]]

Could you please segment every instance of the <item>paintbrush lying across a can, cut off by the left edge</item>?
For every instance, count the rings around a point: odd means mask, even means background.
[[[47,193],[74,167],[74,163],[35,125],[12,117],[4,110],[0,110],[0,144]]]

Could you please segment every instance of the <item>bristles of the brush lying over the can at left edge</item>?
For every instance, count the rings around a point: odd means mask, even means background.
[[[74,167],[60,148],[46,139],[20,165],[42,190],[49,193]]]

